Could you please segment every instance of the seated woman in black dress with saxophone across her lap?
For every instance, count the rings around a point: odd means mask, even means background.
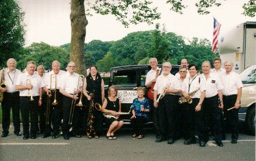
[[[104,100],[102,104],[102,113],[111,114],[110,118],[106,117],[105,122],[106,125],[109,126],[109,130],[107,131],[106,137],[109,140],[116,139],[114,132],[120,129],[124,125],[124,121],[119,118],[117,115],[117,111],[121,112],[121,102],[116,97],[117,96],[117,88],[114,85],[109,87],[108,97]]]

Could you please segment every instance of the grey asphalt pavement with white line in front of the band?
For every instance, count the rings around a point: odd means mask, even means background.
[[[1,129],[1,126],[0,126]],[[10,127],[8,137],[0,137],[0,160],[255,160],[255,136],[239,133],[237,144],[231,144],[231,134],[223,141],[224,147],[214,144],[213,137],[206,147],[184,145],[183,139],[169,145],[167,141],[155,143],[155,135],[146,130],[142,139],[132,138],[130,130],[121,130],[116,140],[71,137],[23,140]]]

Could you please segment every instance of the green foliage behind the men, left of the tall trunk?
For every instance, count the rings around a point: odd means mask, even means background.
[[[61,47],[50,46],[46,43],[32,43],[24,48],[23,57],[17,59],[17,68],[23,70],[28,61],[35,61],[36,65],[43,65],[44,69],[51,69],[51,63],[58,60],[61,69],[65,69],[69,62],[69,54]]]

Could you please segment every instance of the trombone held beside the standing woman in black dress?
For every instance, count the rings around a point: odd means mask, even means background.
[[[80,78],[81,80],[83,80],[83,85],[82,85],[82,90],[81,90],[81,94],[80,94],[80,99],[79,99],[79,103],[76,104],[76,100],[75,98],[75,91],[73,93],[73,99],[72,99],[72,103],[71,103],[71,112],[69,113],[69,125],[72,125],[72,121],[73,121],[73,115],[74,115],[74,111],[75,111],[75,106],[83,106],[83,103],[81,102],[81,99],[83,98],[83,87],[84,87],[84,76],[83,75],[79,75],[78,78],[78,83],[77,83],[77,88],[79,89],[79,83],[80,83]]]

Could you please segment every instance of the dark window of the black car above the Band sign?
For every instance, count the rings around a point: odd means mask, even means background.
[[[136,70],[116,70],[113,74],[113,85],[117,87],[136,87]]]

